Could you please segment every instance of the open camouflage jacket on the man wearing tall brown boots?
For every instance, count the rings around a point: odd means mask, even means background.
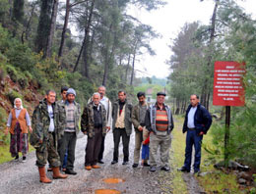
[[[54,132],[55,132],[55,146],[57,147],[57,141],[63,135],[63,129],[65,127],[66,115],[63,105],[53,104],[54,114]],[[48,140],[48,129],[50,125],[50,118],[47,109],[47,102],[44,99],[39,102],[39,105],[35,107],[32,113],[32,135],[30,142],[35,149],[38,149],[45,144]],[[39,140],[43,143],[40,144]]]

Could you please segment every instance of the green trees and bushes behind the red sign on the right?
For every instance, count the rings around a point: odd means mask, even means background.
[[[190,94],[218,119],[212,126],[213,158],[224,154],[224,107],[213,106],[214,64],[246,64],[245,106],[231,107],[230,159],[256,167],[256,21],[232,0],[215,0],[209,24],[184,24],[169,48],[168,89],[175,114],[184,114]]]

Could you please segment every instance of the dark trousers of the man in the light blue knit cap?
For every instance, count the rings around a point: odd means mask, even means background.
[[[64,136],[61,139],[61,145],[59,149],[60,153],[60,162],[61,167],[63,167],[64,158],[66,151],[68,152],[68,159],[67,159],[67,170],[74,169],[74,162],[75,162],[75,148],[77,143],[77,135],[76,132],[64,132]]]

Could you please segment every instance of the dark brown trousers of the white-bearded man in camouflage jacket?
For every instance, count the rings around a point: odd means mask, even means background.
[[[88,137],[85,166],[96,165],[102,140],[102,127],[95,128],[95,136]]]

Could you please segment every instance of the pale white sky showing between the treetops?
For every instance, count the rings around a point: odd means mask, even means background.
[[[139,19],[143,24],[149,24],[160,33],[161,38],[150,41],[156,55],[145,54],[135,64],[136,76],[153,76],[164,78],[170,73],[166,60],[171,56],[172,39],[176,38],[185,23],[199,21],[201,24],[210,24],[214,10],[213,0],[165,0],[167,5],[158,10],[148,12],[131,7],[128,14]],[[256,0],[238,0],[238,5],[252,14],[256,19]]]

